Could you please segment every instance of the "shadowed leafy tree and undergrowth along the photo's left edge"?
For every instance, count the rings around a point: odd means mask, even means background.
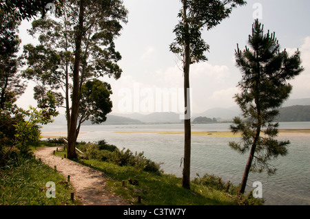
[[[14,146],[21,145],[23,151],[28,143],[35,143],[40,135],[37,124],[47,124],[52,116],[57,115],[52,93],[39,97],[40,110],[30,106],[30,110],[25,111],[14,103],[26,87],[19,72],[22,63],[17,58],[21,43],[18,27],[23,19],[29,20],[39,12],[43,15],[48,2],[51,1],[0,2],[0,165],[5,163],[3,161],[6,161]],[[7,149],[2,150],[4,147]]]

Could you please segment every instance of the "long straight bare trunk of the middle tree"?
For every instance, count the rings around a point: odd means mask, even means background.
[[[184,56],[184,101],[185,101],[185,142],[184,142],[184,167],[183,167],[183,181],[182,186],[186,189],[190,189],[190,167],[191,167],[191,108],[189,100],[189,65],[190,65],[190,47],[189,47],[189,26],[187,23],[187,1],[183,1],[183,25],[185,27],[185,56]]]

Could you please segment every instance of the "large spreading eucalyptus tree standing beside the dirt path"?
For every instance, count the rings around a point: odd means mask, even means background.
[[[121,0],[67,0],[55,5],[58,17],[45,16],[32,23],[30,34],[39,35],[39,45],[24,47],[29,66],[24,76],[37,81],[39,93],[53,91],[65,102],[68,158],[72,158],[83,84],[105,76],[121,77],[117,64],[121,54],[114,39],[120,36],[122,23],[127,23],[127,10]]]

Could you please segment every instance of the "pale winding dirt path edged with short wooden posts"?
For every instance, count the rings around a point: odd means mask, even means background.
[[[39,149],[36,158],[61,172],[65,177],[70,175],[70,183],[75,188],[74,197],[83,205],[130,205],[122,198],[105,190],[105,176],[102,172],[87,168],[84,165],[52,155],[54,147]]]

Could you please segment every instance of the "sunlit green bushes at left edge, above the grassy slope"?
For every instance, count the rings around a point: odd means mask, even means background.
[[[52,93],[48,93],[40,102],[39,109],[30,106],[29,110],[24,110],[14,106],[7,111],[0,111],[3,122],[0,126],[1,164],[6,163],[13,148],[17,147],[19,152],[27,153],[29,146],[37,146],[41,135],[39,124],[48,124],[58,115]]]

